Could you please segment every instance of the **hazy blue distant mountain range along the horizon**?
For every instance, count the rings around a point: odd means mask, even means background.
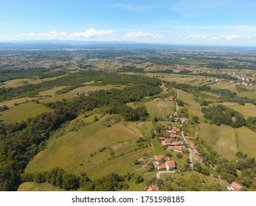
[[[0,42],[0,49],[189,49],[256,51],[255,46],[195,46],[178,44],[136,43],[128,41],[79,41],[79,40],[17,40]]]

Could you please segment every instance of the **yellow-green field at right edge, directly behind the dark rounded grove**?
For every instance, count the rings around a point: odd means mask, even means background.
[[[245,118],[256,116],[256,106],[254,104],[246,103],[244,106],[235,102],[224,102],[221,104],[241,113]]]

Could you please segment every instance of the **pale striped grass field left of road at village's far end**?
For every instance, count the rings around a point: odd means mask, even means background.
[[[176,105],[174,101],[164,101],[156,98],[150,102],[146,102],[145,107],[147,108],[151,118],[156,116],[165,119],[166,116],[174,113]]]

